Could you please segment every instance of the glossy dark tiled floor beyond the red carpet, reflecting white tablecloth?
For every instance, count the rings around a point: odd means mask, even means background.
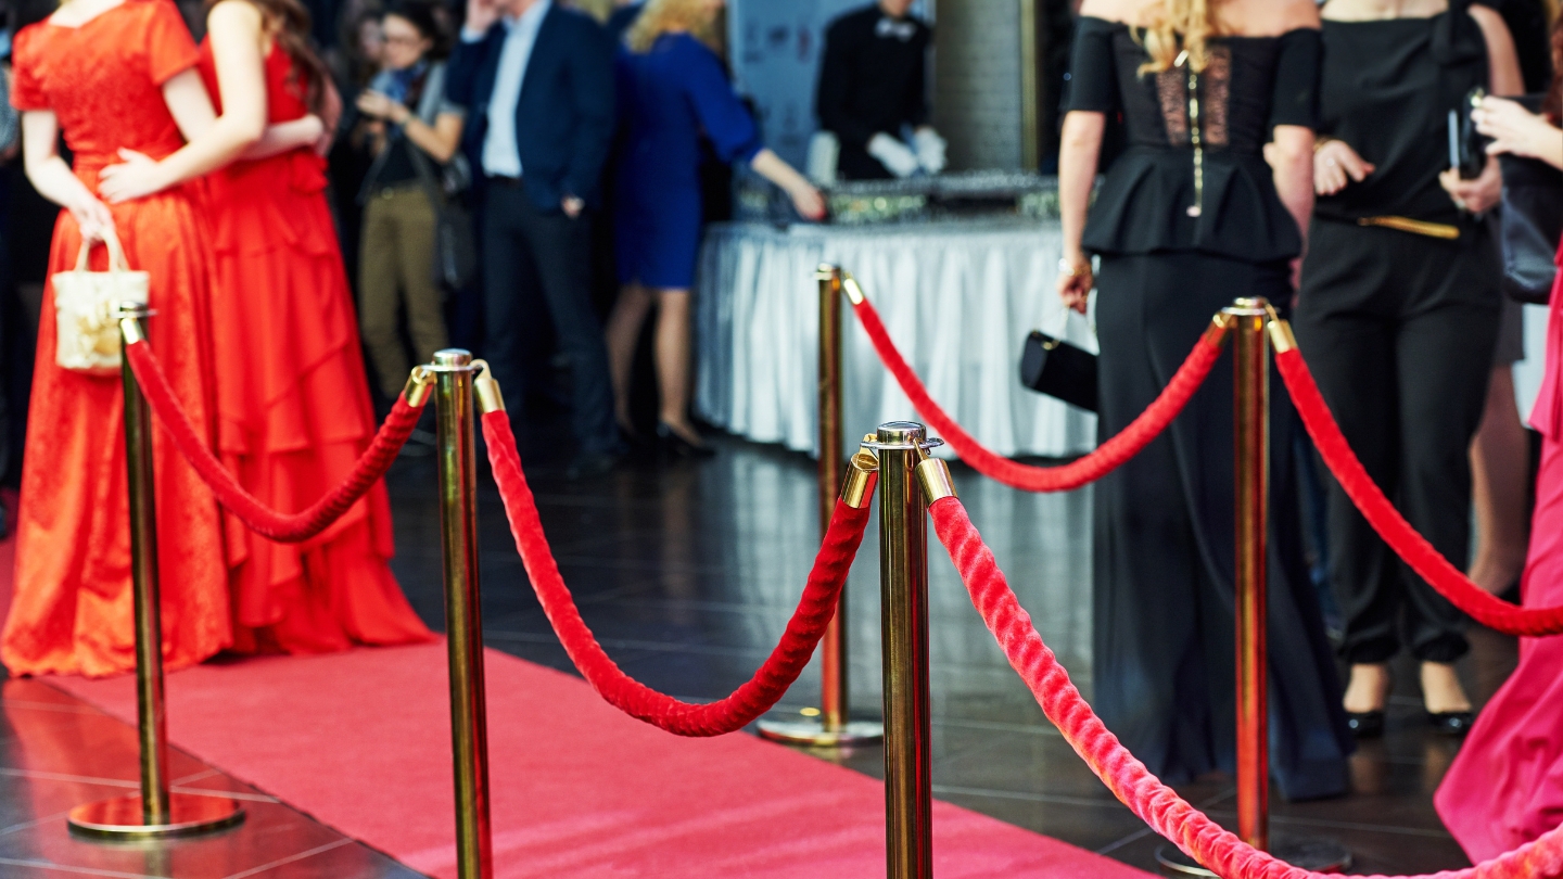
[[[522,441],[564,577],[619,665],[650,687],[696,701],[725,696],[747,680],[780,637],[817,549],[813,463],[719,438],[721,455],[711,461],[658,466],[642,460],[572,485],[561,477],[569,443],[556,427],[528,432]],[[1022,494],[961,468],[957,482],[1043,638],[1089,696],[1089,493]],[[525,582],[492,483],[486,475],[480,483],[488,643],[569,669]],[[391,491],[397,574],[419,612],[441,626],[433,463],[403,460]],[[864,716],[880,710],[872,547],[872,540],[864,543],[849,587],[852,704]],[[936,796],[1155,870],[1161,840],[1113,799],[1047,724],[936,544],[930,604]],[[1465,673],[1485,699],[1511,668],[1515,646],[1486,632],[1474,644]],[[1354,759],[1354,793],[1324,802],[1277,801],[1274,829],[1332,835],[1350,846],[1357,871],[1364,873],[1465,866],[1432,809],[1455,746],[1419,726],[1415,669],[1407,665],[1396,677],[1402,683],[1390,735]],[[811,666],[785,707],[814,704],[817,691],[819,673]],[[878,748],[819,757],[871,776],[883,771]],[[1235,823],[1230,779],[1211,777],[1180,793],[1224,824]]]

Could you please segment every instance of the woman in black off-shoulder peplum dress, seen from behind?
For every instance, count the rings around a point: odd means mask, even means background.
[[[1288,303],[1313,203],[1313,0],[1211,3],[1219,20],[1193,6],[1088,0],[1078,23],[1058,288],[1085,310],[1088,253],[1100,257],[1102,438],[1144,411],[1235,297]],[[1116,114],[1128,149],[1086,221]],[[1294,416],[1283,393],[1272,400],[1271,766],[1285,796],[1308,799],[1346,790],[1352,741],[1302,558]],[[1096,488],[1096,710],[1172,784],[1235,763],[1232,433],[1225,361],[1166,435]]]

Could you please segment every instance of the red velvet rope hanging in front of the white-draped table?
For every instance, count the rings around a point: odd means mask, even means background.
[[[896,343],[891,341],[889,332],[885,330],[885,322],[880,321],[874,303],[867,300],[858,302],[853,305],[853,311],[863,324],[863,330],[867,332],[869,339],[874,343],[874,350],[878,352],[885,368],[900,383],[900,389],[907,393],[911,405],[928,422],[928,427],[944,438],[955,449],[955,454],[971,465],[972,469],[1021,491],[1074,491],[1102,479],[1122,466],[1128,458],[1138,455],[1141,449],[1172,424],[1172,419],[1183,411],[1189,397],[1194,396],[1194,391],[1205,383],[1210,368],[1221,357],[1221,344],[1225,341],[1225,333],[1216,338],[1210,335],[1200,336],[1194,350],[1189,352],[1188,360],[1172,375],[1168,386],[1161,389],[1161,396],[1146,411],[1139,413],[1139,418],[1118,436],[1102,443],[1094,452],[1077,461],[1057,468],[1038,468],[1011,461],[985,447],[971,433],[966,433],[933,400],[928,388],[924,386],[922,380],[917,379],[917,374],[907,363],[907,358],[896,349]]]

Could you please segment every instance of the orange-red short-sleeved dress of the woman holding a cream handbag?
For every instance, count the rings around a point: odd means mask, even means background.
[[[97,172],[128,147],[153,158],[180,145],[161,86],[195,66],[195,44],[170,0],[125,0],[91,22],[48,22],[16,34],[17,109],[52,109],[75,153]],[[148,335],[191,418],[216,432],[208,257],[184,189],[116,205],[114,227],[133,269],[152,275]],[[50,272],[72,267],[81,235],[61,211]],[[94,252],[102,271],[106,257]],[[123,396],[117,377],[55,364],[55,305],[45,288],[17,519],[16,594],[0,637],[13,674],[105,676],[134,668]],[[158,430],[153,433],[163,648],[170,668],[231,641],[222,524],[211,493]]]

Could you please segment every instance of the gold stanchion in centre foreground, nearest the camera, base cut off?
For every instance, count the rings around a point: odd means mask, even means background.
[[[888,879],[933,876],[928,741],[928,499],[916,468],[935,446],[921,424],[878,429],[880,629],[885,649],[885,859]]]

